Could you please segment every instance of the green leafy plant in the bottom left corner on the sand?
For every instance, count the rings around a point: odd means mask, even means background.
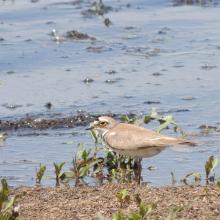
[[[15,207],[15,196],[9,195],[9,187],[6,179],[1,180],[0,188],[0,219],[14,220],[18,217],[18,207]]]

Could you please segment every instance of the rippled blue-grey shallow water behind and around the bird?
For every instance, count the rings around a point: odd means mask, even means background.
[[[173,114],[189,133],[199,133],[201,124],[219,126],[219,5],[104,1],[113,7],[104,15],[112,22],[106,27],[103,18],[82,14],[90,3],[0,1],[2,120],[81,111],[146,114],[156,107]],[[61,37],[78,30],[97,40],[54,41],[49,35],[53,29]],[[85,83],[87,78],[94,81]],[[51,110],[46,102],[52,103]],[[78,143],[93,146],[85,127],[26,133],[32,131],[9,133],[0,147],[0,176],[14,186],[33,185],[39,163],[47,165],[48,176],[53,162],[71,163]],[[171,171],[177,179],[204,172],[208,156],[220,156],[219,133],[195,139],[195,148],[167,149],[145,159],[144,181],[166,185]],[[157,170],[146,171],[148,166]],[[51,179],[43,182],[54,184]]]

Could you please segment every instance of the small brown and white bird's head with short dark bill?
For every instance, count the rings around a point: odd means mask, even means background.
[[[90,129],[97,130],[99,134],[109,131],[117,124],[115,119],[108,116],[101,116],[90,124]]]

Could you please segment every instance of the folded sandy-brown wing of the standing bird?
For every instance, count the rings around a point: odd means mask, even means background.
[[[122,150],[136,150],[161,147],[187,142],[184,139],[168,137],[142,127],[119,123],[105,137],[109,147]]]

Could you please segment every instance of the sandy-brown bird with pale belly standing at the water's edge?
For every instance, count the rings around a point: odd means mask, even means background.
[[[100,116],[98,120],[91,123],[90,129],[98,132],[108,149],[119,155],[136,158],[140,172],[142,158],[155,156],[171,145],[194,145],[193,142],[184,138],[162,135],[134,124],[118,122],[109,116]]]

